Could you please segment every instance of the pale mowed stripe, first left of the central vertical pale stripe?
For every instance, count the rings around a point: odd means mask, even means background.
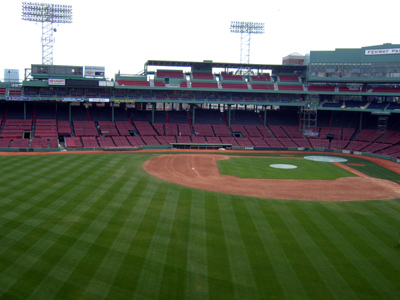
[[[178,197],[179,193],[176,189],[166,191],[157,227],[152,235],[133,299],[159,298]]]

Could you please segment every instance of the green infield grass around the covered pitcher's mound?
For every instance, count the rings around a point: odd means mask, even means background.
[[[219,160],[217,163],[221,174],[239,178],[334,180],[356,176],[333,163],[302,158],[231,157],[227,160]],[[288,164],[297,168],[272,168],[271,164]]]

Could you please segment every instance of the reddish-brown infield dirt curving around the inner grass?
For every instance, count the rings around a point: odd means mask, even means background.
[[[400,197],[400,185],[369,177],[341,163],[335,164],[355,173],[358,177],[336,180],[238,178],[220,174],[217,160],[221,159],[229,159],[229,156],[160,155],[144,162],[143,169],[152,176],[168,182],[243,196],[314,201],[384,200]]]

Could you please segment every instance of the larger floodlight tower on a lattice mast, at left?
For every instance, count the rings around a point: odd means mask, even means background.
[[[53,64],[54,24],[72,23],[72,6],[22,2],[22,20],[42,23],[42,64]]]

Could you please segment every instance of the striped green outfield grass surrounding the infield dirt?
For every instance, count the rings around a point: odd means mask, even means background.
[[[399,199],[224,195],[153,155],[0,156],[0,299],[400,299]]]

